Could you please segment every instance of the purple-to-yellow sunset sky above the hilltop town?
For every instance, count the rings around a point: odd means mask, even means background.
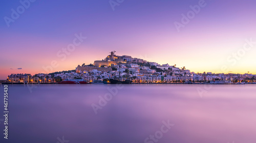
[[[253,0],[4,0],[0,79],[73,70],[113,50],[196,73],[256,74],[255,6]]]

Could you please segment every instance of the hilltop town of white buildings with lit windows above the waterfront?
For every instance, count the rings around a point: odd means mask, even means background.
[[[112,51],[102,61],[78,65],[76,70],[31,74],[11,74],[7,81],[12,83],[56,83],[64,79],[109,81],[109,79],[132,80],[133,83],[255,83],[253,74],[194,73],[185,67],[148,62],[129,55],[116,55]]]

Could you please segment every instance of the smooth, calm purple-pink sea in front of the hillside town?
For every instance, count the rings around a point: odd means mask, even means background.
[[[255,84],[0,87],[0,142],[256,142]]]

